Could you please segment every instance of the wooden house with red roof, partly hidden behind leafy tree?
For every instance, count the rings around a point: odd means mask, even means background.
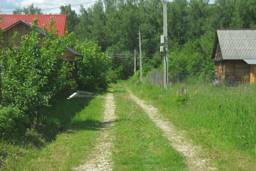
[[[3,15],[3,21],[0,23],[0,27],[5,30],[6,38],[10,41],[11,36],[17,31],[19,33],[17,39],[14,42],[15,46],[21,46],[21,37],[25,34],[29,34],[33,24],[33,19],[38,18],[38,32],[40,33],[40,41],[42,43],[43,37],[46,36],[44,30],[42,29],[43,25],[46,28],[49,28],[49,23],[51,17],[55,17],[54,21],[56,22],[56,28],[59,30],[59,36],[64,35],[64,32],[67,31],[67,22],[66,15]],[[20,19],[20,20],[19,20]],[[18,20],[18,21],[17,21]],[[25,21],[24,21],[25,20]],[[1,45],[1,42],[0,42]],[[68,47],[64,52],[63,56],[60,56],[60,59],[69,61],[71,64],[74,64],[75,69],[72,71],[72,78],[77,81],[77,63],[76,59],[82,59],[83,55],[77,52],[76,50]]]

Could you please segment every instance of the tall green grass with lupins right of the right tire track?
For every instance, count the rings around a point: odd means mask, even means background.
[[[201,145],[218,169],[256,169],[256,86],[212,87],[186,85],[188,100],[178,105],[182,85],[159,86],[122,81],[136,96],[148,100],[176,128]],[[195,89],[197,94],[195,94]],[[219,108],[221,104],[221,109]]]

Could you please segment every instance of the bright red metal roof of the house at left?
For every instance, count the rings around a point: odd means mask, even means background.
[[[3,14],[3,22],[0,22],[0,27],[5,29],[17,21],[25,21],[31,24],[33,23],[34,18],[38,18],[38,27],[43,28],[42,25],[46,25],[46,28],[49,28],[49,23],[51,21],[51,17],[55,17],[54,22],[57,30],[59,30],[60,36],[64,34],[65,24],[66,24],[66,15],[9,15]]]

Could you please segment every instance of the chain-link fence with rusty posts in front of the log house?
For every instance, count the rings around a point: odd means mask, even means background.
[[[149,85],[163,86],[164,70],[154,71],[149,74]],[[250,83],[250,72],[233,72],[233,73],[214,73],[213,71],[198,71],[198,72],[179,72],[169,71],[168,82],[169,86],[177,84],[204,84],[204,85],[227,85],[236,86],[240,84]]]

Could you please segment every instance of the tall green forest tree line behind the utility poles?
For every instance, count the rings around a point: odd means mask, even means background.
[[[134,49],[137,55],[139,52],[139,30],[143,74],[163,68],[159,52],[163,34],[162,1],[103,0],[87,9],[81,5],[79,14],[68,5],[60,7],[60,14],[67,14],[68,31],[74,32],[80,43],[89,39],[105,54],[109,52],[109,57],[112,54],[108,66],[118,78],[127,79],[134,73],[133,55]],[[215,29],[256,28],[256,0],[215,0],[213,4],[209,0],[173,0],[167,3],[167,8],[169,71],[213,73],[210,57]],[[35,9],[31,12],[42,14],[39,8]]]

